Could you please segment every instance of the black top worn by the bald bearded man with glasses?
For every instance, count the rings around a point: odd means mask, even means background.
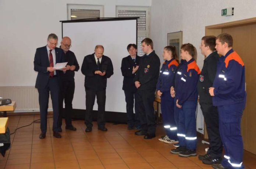
[[[67,65],[75,65],[75,70],[67,70],[65,73],[60,72],[61,81],[74,81],[75,71],[79,70],[79,65],[77,62],[77,58],[75,57],[74,52],[67,51],[64,55],[65,62],[68,62]]]

